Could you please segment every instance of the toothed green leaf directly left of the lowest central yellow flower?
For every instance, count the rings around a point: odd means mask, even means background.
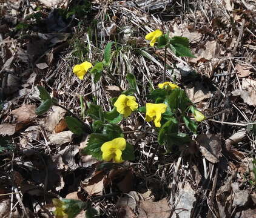
[[[81,154],[90,154],[98,160],[102,160],[101,145],[109,141],[107,134],[92,133],[89,136],[87,147],[81,151]]]

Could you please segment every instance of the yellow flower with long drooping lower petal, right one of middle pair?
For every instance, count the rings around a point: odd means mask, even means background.
[[[167,105],[166,104],[146,104],[146,119],[145,121],[150,122],[153,121],[155,127],[161,127],[161,114],[166,111]]]

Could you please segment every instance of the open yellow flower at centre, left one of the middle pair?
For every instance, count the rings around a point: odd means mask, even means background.
[[[138,108],[138,104],[134,96],[126,96],[121,94],[116,100],[114,106],[120,114],[124,114],[124,117],[130,116],[132,111]]]

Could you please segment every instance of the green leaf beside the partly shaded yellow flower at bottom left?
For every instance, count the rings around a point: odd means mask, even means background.
[[[81,200],[62,199],[62,202],[64,202],[64,212],[69,218],[75,218],[82,210],[87,208],[87,203]]]

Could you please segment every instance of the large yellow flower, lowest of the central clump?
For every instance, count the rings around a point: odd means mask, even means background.
[[[116,163],[121,163],[122,151],[126,149],[126,139],[118,137],[109,142],[105,142],[101,145],[101,151],[103,152],[103,160],[110,161],[113,159]]]

